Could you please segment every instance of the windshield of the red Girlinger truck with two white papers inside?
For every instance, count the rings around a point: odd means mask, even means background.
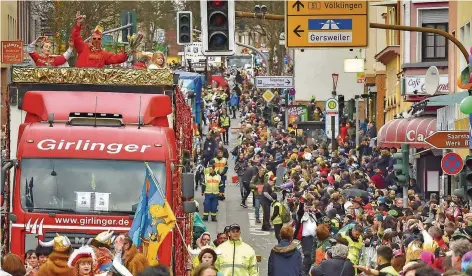
[[[165,163],[148,164],[165,195]],[[133,214],[145,176],[141,161],[25,158],[21,205],[29,212]]]

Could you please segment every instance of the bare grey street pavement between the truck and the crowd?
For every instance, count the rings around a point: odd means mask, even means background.
[[[237,127],[239,123],[238,119],[231,120],[231,126]],[[206,128],[203,133],[206,132]],[[229,136],[229,146],[226,146],[229,152],[237,144],[237,134],[231,134]],[[218,206],[218,221],[206,222],[208,231],[212,234],[212,239],[216,238],[216,234],[223,232],[225,226],[232,223],[237,223],[241,226],[241,235],[244,242],[251,245],[256,251],[256,255],[260,255],[262,258],[259,263],[260,275],[267,275],[267,262],[272,247],[277,243],[274,232],[261,231],[261,224],[256,223],[254,216],[254,208],[252,206],[252,195],[247,200],[248,208],[243,208],[241,204],[241,193],[239,186],[231,183],[231,178],[236,175],[234,172],[234,159],[230,153],[230,160],[228,161],[228,180],[226,181],[226,199],[220,201]],[[199,211],[200,215],[203,216],[203,197],[200,192],[196,193],[196,200],[200,204]],[[262,207],[260,208],[260,219],[262,220]]]

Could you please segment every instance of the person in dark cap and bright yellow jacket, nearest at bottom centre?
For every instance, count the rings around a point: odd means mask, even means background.
[[[230,240],[216,250],[220,256],[215,267],[224,276],[259,276],[256,252],[241,240],[241,227],[238,224],[230,225]]]

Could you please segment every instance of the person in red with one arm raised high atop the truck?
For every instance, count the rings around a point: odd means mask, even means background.
[[[123,63],[128,59],[127,53],[113,54],[102,49],[102,28],[97,26],[92,34],[92,43],[85,43],[80,35],[85,16],[77,12],[76,24],[72,30],[72,39],[77,51],[75,67],[103,68],[105,65]]]

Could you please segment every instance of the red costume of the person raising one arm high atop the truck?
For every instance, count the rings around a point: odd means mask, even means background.
[[[126,53],[113,54],[101,48],[87,44],[80,35],[80,26],[74,26],[72,39],[78,53],[75,67],[103,68],[105,65],[123,63],[128,59]]]

